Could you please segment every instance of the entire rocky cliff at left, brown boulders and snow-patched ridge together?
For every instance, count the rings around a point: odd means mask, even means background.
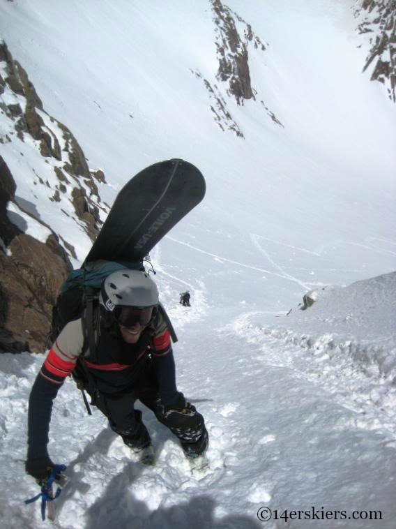
[[[105,177],[45,112],[5,43],[0,126],[0,351],[40,352],[70,259],[79,257],[75,243],[88,250],[107,214],[98,193]]]

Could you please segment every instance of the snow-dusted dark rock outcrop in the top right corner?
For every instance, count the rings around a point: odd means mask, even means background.
[[[396,103],[396,1],[359,0],[355,15],[371,44],[363,71],[371,68],[371,80],[381,82]]]

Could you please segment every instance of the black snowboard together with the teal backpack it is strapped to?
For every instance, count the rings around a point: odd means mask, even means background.
[[[82,268],[73,271],[63,284],[52,311],[48,348],[68,322],[81,318],[83,355],[95,363],[100,334],[99,295],[103,280],[112,272],[124,268],[144,270],[146,256],[201,202],[205,191],[205,179],[199,169],[180,158],[154,163],[135,174],[117,194]],[[149,260],[148,263],[151,264]],[[161,304],[158,311],[172,341],[176,342],[172,323]],[[79,371],[82,373],[79,389],[84,389],[84,374],[87,375],[82,359],[82,356],[77,359],[73,371],[77,386]]]

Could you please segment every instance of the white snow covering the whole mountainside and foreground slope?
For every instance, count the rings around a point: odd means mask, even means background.
[[[142,468],[98,410],[86,415],[68,380],[51,423],[50,454],[69,478],[54,526],[253,529],[263,527],[260,507],[314,506],[382,519],[265,526],[393,528],[396,110],[361,74],[369,45],[358,47],[352,1],[266,0],[264,9],[229,0],[268,43],[249,49],[257,100],[242,107],[215,78],[209,2],[32,4],[0,3],[1,36],[45,110],[105,171],[102,199],[111,203],[132,174],[176,156],[207,181],[204,202],[151,257],[179,338],[178,387],[208,425],[210,469],[191,474],[143,407],[158,463]],[[195,72],[217,86],[244,139],[220,130]],[[17,196],[73,242],[77,265],[90,241],[73,217],[60,220],[50,190],[33,188],[33,169],[44,181],[52,174],[34,148],[14,137],[0,154],[18,177]],[[178,303],[187,289],[191,308]],[[301,311],[311,290],[317,301]],[[0,358],[7,528],[50,525],[23,503],[37,492],[22,461],[42,362]]]

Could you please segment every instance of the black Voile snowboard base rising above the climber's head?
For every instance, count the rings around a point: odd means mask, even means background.
[[[137,262],[205,196],[192,163],[178,158],[146,167],[125,184],[84,265],[96,260]]]

